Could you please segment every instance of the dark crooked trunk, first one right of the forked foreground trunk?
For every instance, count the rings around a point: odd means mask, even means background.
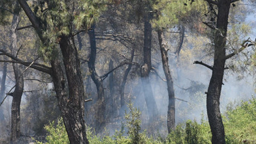
[[[97,125],[97,131],[99,131],[100,128],[103,127],[105,123],[105,109],[106,109],[106,104],[105,104],[105,97],[104,97],[104,86],[103,86],[103,81],[100,79],[98,76],[96,70],[95,70],[95,59],[96,59],[96,38],[95,38],[95,26],[92,26],[92,29],[88,31],[88,35],[90,37],[90,45],[91,45],[91,53],[90,53],[90,60],[88,61],[88,67],[90,70],[90,74],[92,77],[93,82],[96,85],[97,88],[97,112],[95,114],[96,116],[96,122],[95,125]]]

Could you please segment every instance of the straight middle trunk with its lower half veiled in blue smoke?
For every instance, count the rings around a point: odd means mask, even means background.
[[[151,13],[145,13],[144,17],[144,45],[143,45],[143,66],[141,67],[141,82],[145,100],[148,109],[149,119],[153,120],[157,118],[157,105],[152,92],[150,84],[149,73],[151,70],[151,39],[152,39],[152,28],[150,20],[152,19]]]

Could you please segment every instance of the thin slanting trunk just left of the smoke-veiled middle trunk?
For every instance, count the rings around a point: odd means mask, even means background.
[[[123,78],[123,81],[122,81],[122,84],[121,84],[121,87],[120,87],[120,102],[121,102],[121,108],[125,108],[125,98],[124,98],[124,89],[125,89],[125,84],[126,84],[126,81],[127,81],[127,77],[128,77],[128,74],[132,68],[132,61],[133,61],[133,58],[134,58],[134,49],[132,49],[132,52],[131,52],[131,59],[129,60],[129,65],[128,65],[128,68],[125,70],[125,73],[124,73],[124,78]]]

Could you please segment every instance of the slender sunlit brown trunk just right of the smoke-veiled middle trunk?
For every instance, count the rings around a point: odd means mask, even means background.
[[[167,113],[167,127],[168,133],[175,129],[175,95],[173,90],[172,74],[169,68],[168,62],[168,49],[166,47],[166,42],[164,41],[163,30],[159,29],[158,39],[161,51],[161,58],[163,63],[164,75],[166,77],[167,91],[168,91],[168,113]]]

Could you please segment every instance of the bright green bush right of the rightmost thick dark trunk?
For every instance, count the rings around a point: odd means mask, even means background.
[[[253,97],[241,106],[227,111],[223,118],[227,143],[256,140],[256,99]]]

